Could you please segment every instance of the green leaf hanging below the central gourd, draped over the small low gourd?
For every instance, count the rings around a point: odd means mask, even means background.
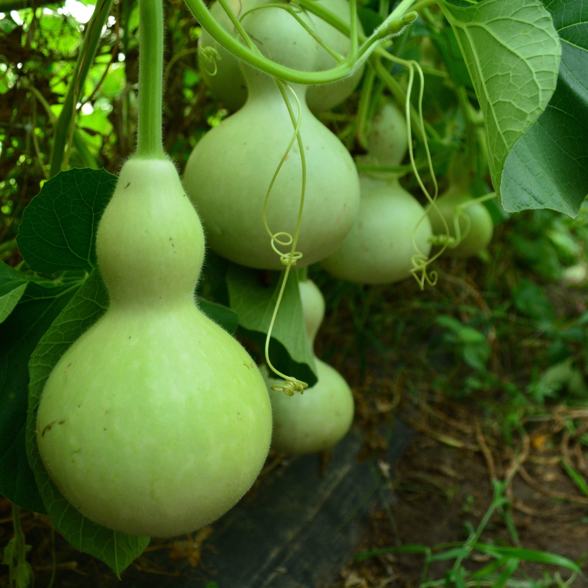
[[[282,274],[272,272],[268,284],[260,279],[263,272],[231,263],[226,273],[229,306],[239,316],[238,335],[265,349],[273,309],[278,299],[278,282]],[[302,304],[296,272],[290,272],[280,308],[273,325],[269,359],[288,376],[297,377],[313,386],[316,383],[314,353],[310,349],[302,316]]]

